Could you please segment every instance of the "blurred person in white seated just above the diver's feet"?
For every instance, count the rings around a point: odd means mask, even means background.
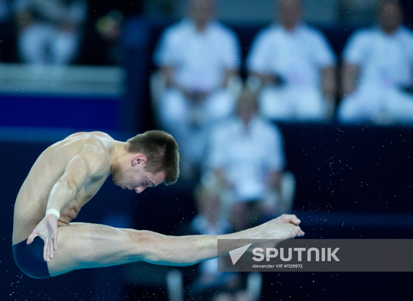
[[[221,186],[222,211],[233,230],[292,209],[294,176],[286,165],[280,130],[257,115],[256,94],[242,91],[236,116],[215,126],[204,180]]]

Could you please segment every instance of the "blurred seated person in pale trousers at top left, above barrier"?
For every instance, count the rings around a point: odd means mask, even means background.
[[[85,0],[16,0],[19,55],[32,64],[69,64],[79,48]]]

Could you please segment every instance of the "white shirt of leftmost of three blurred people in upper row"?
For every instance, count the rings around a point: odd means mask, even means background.
[[[240,46],[235,33],[216,21],[199,32],[191,20],[183,19],[162,34],[154,63],[176,67],[179,85],[208,91],[223,83],[225,71],[239,69]]]

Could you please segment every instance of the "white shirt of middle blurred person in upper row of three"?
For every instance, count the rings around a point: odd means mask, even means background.
[[[272,25],[258,33],[247,57],[250,72],[277,74],[288,85],[316,86],[320,69],[335,66],[327,39],[316,29],[300,24],[293,31]]]

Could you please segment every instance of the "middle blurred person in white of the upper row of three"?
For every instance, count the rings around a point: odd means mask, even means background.
[[[261,114],[281,121],[330,117],[336,58],[327,39],[301,21],[301,1],[278,0],[279,24],[261,31],[247,57],[249,83],[263,85]]]

